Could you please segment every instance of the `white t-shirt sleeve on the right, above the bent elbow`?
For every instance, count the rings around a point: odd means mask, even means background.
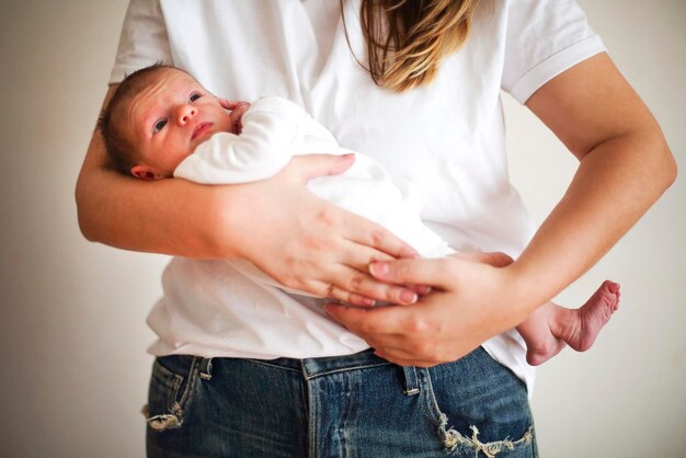
[[[573,0],[513,0],[501,87],[525,103],[564,70],[605,50]]]

